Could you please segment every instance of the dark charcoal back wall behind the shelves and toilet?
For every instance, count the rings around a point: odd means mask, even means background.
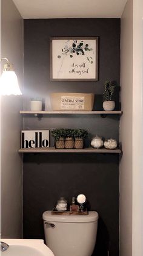
[[[50,37],[99,36],[98,82],[50,82]],[[50,107],[55,91],[95,93],[95,110],[102,110],[102,91],[107,79],[120,78],[119,19],[24,20],[25,110],[30,97],[41,96]],[[118,91],[118,90],[117,90]],[[119,109],[119,96],[116,97]],[[119,141],[119,117],[95,115],[44,116],[24,118],[24,129],[56,127],[88,128],[90,138],[100,135]],[[89,140],[86,144],[89,144]],[[51,142],[53,146],[53,140]],[[52,209],[59,196],[71,201],[84,193],[90,210],[99,213],[94,256],[118,256],[119,155],[117,154],[24,154],[24,238],[44,238],[42,213]],[[82,255],[81,255],[82,256]]]

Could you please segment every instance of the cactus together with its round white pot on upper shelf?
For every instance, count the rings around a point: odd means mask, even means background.
[[[115,85],[111,85],[111,81],[105,81],[105,89],[103,93],[103,108],[105,111],[111,111],[115,108],[114,92]]]

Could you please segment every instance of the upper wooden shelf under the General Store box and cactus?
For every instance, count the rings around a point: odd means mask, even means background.
[[[30,110],[21,110],[20,114],[38,114],[38,115],[107,115],[107,114],[122,114],[121,110],[118,111],[30,111]]]

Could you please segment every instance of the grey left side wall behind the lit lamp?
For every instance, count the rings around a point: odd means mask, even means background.
[[[1,0],[1,58],[23,77],[23,21],[12,0]],[[2,62],[1,68],[4,62]],[[18,154],[22,96],[1,97],[1,237],[22,238],[22,158]]]

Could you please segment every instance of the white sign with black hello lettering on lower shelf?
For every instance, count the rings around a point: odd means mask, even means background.
[[[21,148],[49,148],[49,130],[22,130]]]

